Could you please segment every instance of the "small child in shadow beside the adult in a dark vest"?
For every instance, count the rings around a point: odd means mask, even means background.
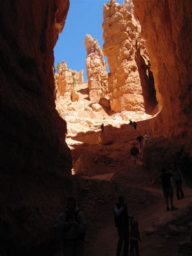
[[[138,240],[141,241],[140,235],[139,235],[139,224],[137,221],[133,222],[134,218],[131,218],[130,221],[130,226],[131,226],[131,230],[130,230],[130,256],[133,256],[133,251],[135,248],[135,252],[136,252],[136,256],[139,256],[139,244],[138,244]]]

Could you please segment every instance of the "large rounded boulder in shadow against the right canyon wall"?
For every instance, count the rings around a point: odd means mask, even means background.
[[[143,150],[143,164],[149,169],[168,168],[179,160],[181,152],[182,146],[174,139],[154,138]]]

